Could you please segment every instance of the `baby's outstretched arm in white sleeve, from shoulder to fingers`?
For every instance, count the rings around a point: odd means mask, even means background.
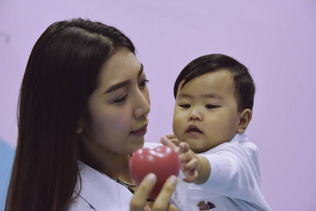
[[[213,151],[212,154],[203,156],[195,154],[197,158],[194,157],[193,152],[191,155],[189,154],[189,150],[187,151],[187,148],[182,146],[183,143],[179,143],[179,146],[176,147],[167,137],[162,138],[161,143],[174,148],[179,156],[183,155],[183,157],[187,157],[187,160],[197,160],[197,164],[193,165],[195,166],[193,170],[196,170],[198,178],[188,177],[187,172],[184,172],[186,177],[184,181],[191,182],[191,180],[187,180],[191,178],[194,183],[201,184],[200,187],[204,191],[210,191],[210,193],[216,193],[221,196],[239,198],[246,201],[252,201],[254,196],[263,198],[258,148],[253,143],[248,141],[225,143],[222,147]],[[241,144],[244,146],[241,147]],[[244,150],[241,148],[244,148]],[[186,162],[183,157],[180,158],[184,162],[181,165],[182,170],[184,167],[184,170],[188,171],[191,167],[188,168],[186,166],[189,165],[189,162]],[[201,157],[206,159],[207,165],[205,165]],[[205,171],[206,168],[208,168],[208,172]],[[203,176],[203,174],[206,176]]]

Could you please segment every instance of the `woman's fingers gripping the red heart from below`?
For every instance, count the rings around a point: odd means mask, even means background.
[[[134,193],[134,197],[132,198],[131,202],[129,203],[129,210],[130,211],[144,211],[144,210],[152,210],[152,211],[176,211],[178,210],[175,205],[170,205],[169,200],[170,197],[175,191],[175,186],[177,185],[177,177],[174,175],[170,176],[167,181],[165,181],[165,184],[163,185],[163,188],[161,189],[158,197],[153,202],[153,207],[150,209],[146,205],[147,197],[149,196],[149,193],[151,193],[151,190],[153,189],[153,186],[155,186],[157,181],[157,177],[153,173],[149,173],[143,181],[141,181],[141,184],[139,184],[137,190]]]

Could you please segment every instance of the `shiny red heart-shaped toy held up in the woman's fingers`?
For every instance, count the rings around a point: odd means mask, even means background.
[[[150,198],[156,198],[166,179],[178,175],[180,168],[179,155],[169,146],[158,146],[154,149],[141,148],[134,152],[129,161],[129,172],[136,182],[141,181],[150,172],[156,174],[157,182]]]

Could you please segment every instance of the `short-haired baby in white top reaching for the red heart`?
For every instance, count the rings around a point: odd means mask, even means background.
[[[222,54],[201,56],[175,82],[173,132],[161,142],[182,162],[173,196],[179,210],[271,210],[263,196],[258,148],[248,141],[255,84]]]

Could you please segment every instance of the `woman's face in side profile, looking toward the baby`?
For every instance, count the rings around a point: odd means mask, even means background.
[[[150,108],[143,65],[128,49],[115,53],[89,97],[88,143],[101,151],[129,155],[144,145]]]

